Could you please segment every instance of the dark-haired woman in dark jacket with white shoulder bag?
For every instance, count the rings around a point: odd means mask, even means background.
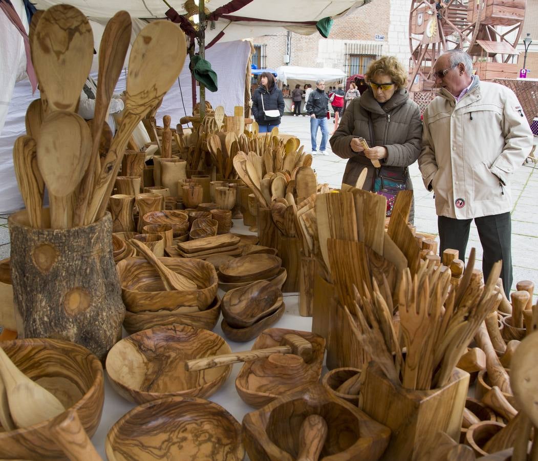
[[[264,110],[278,110],[280,116],[268,117]],[[280,117],[284,115],[284,97],[274,75],[270,72],[263,72],[260,75],[260,86],[252,95],[252,115],[258,122],[259,132],[270,132],[273,128],[280,125]]]

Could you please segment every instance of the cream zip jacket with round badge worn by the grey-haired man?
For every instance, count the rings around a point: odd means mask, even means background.
[[[446,89],[423,115],[419,167],[437,215],[469,219],[512,210],[510,181],[533,134],[514,92],[477,76],[456,103]]]

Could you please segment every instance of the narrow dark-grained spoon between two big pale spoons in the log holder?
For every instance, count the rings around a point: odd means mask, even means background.
[[[93,143],[91,145],[90,163],[77,194],[73,219],[75,226],[89,224],[89,222],[84,222],[84,219],[89,195],[94,184],[95,167],[99,162],[98,151],[101,133],[105,118],[108,115],[108,107],[114,93],[114,87],[118,81],[119,74],[122,72],[130,39],[131,16],[126,11],[118,11],[104,28],[99,46],[99,81],[95,95],[95,113],[91,130]]]

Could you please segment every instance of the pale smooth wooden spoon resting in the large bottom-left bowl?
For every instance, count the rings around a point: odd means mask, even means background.
[[[0,375],[8,395],[11,417],[17,427],[31,426],[65,411],[62,403],[22,373],[1,347]]]

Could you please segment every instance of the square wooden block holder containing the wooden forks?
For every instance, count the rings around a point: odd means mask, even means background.
[[[431,390],[404,389],[388,380],[375,362],[364,373],[359,408],[392,430],[381,459],[412,459],[415,449],[431,443],[438,431],[459,439],[469,373],[455,368],[446,386]]]

